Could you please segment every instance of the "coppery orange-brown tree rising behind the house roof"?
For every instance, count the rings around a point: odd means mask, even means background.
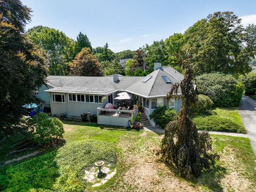
[[[90,48],[85,47],[75,59],[69,63],[70,75],[103,76],[99,61],[94,57]]]

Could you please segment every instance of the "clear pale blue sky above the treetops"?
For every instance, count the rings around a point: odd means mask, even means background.
[[[256,23],[256,1],[21,0],[33,10],[27,29],[42,25],[76,39],[85,33],[93,47],[106,42],[114,52],[182,33],[216,11],[233,11],[244,25]]]

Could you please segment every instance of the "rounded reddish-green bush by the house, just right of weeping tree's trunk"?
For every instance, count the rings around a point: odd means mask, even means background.
[[[214,103],[207,95],[199,94],[198,103],[191,106],[191,112],[197,114],[203,114],[211,110]]]

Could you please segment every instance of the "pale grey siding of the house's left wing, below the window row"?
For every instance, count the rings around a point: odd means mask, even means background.
[[[65,95],[65,103],[62,102],[53,102],[52,94],[50,93],[50,104],[51,104],[51,113],[52,115],[67,114],[70,116],[80,116],[87,111],[91,111],[91,114],[97,114],[97,108],[102,106],[102,103],[89,103],[89,102],[75,102],[68,100],[68,94]],[[55,93],[60,94],[60,93]]]

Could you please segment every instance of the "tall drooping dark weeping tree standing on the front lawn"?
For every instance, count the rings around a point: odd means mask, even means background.
[[[161,154],[164,161],[177,167],[181,177],[198,177],[203,170],[210,170],[219,155],[212,151],[209,133],[198,133],[196,125],[189,118],[189,105],[197,102],[193,85],[195,77],[188,59],[180,59],[179,65],[186,74],[180,83],[172,86],[171,91],[167,93],[167,99],[179,97],[180,89],[182,105],[177,118],[165,127]]]

